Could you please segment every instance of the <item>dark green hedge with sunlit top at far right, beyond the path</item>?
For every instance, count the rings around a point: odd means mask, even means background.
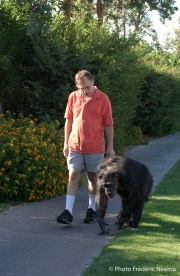
[[[133,123],[145,135],[162,136],[180,130],[179,56],[151,52],[142,59],[144,79]]]

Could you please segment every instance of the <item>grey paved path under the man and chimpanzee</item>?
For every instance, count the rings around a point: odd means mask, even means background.
[[[126,156],[145,163],[155,185],[180,158],[180,132],[126,151]],[[83,223],[88,205],[87,184],[79,190],[73,226],[56,223],[65,196],[28,203],[0,215],[0,276],[77,276],[112,236],[99,236],[96,223]],[[106,221],[115,233],[119,198],[109,200]]]

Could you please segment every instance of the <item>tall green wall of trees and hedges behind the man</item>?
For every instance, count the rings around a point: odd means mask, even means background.
[[[63,125],[74,75],[87,69],[111,99],[116,147],[133,124],[148,135],[178,130],[178,52],[164,53],[158,44],[140,39],[150,28],[146,9],[159,9],[168,17],[175,11],[174,1],[100,2],[103,24],[96,1],[2,0],[4,111],[32,114],[39,121],[58,119]],[[138,9],[141,16],[135,25]],[[136,31],[127,34],[127,26]]]

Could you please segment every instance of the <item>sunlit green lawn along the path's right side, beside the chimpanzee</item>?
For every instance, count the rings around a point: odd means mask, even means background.
[[[138,231],[123,230],[81,275],[180,275],[180,160],[146,203]]]

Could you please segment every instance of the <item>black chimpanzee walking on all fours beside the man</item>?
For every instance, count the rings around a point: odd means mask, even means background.
[[[117,215],[117,229],[123,229],[125,223],[137,229],[144,202],[148,200],[152,187],[152,175],[144,164],[123,156],[104,159],[98,167],[96,197],[100,234],[109,233],[109,225],[104,220],[108,198],[117,193],[122,199],[122,211]]]

